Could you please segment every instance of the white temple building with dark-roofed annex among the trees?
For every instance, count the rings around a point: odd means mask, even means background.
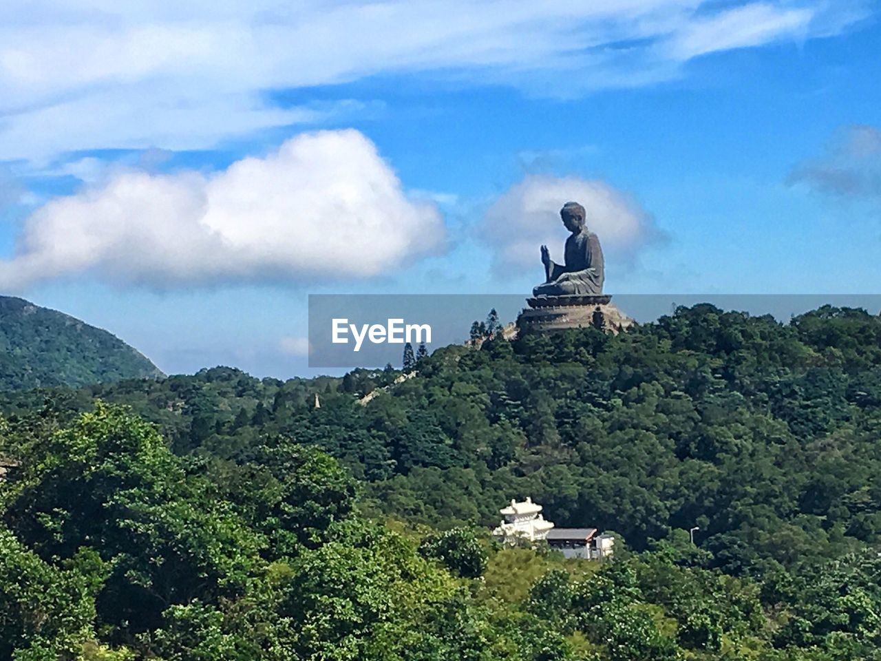
[[[548,546],[563,553],[566,558],[584,558],[603,561],[614,553],[615,538],[597,535],[596,528],[557,528],[542,516],[542,506],[529,496],[525,501],[512,500],[500,514],[501,524],[492,534],[505,544],[547,541]]]

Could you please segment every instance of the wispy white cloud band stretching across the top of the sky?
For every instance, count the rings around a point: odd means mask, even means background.
[[[709,52],[825,37],[864,0],[4,0],[0,159],[204,148],[315,122],[267,90],[385,73],[581,94],[680,75]]]

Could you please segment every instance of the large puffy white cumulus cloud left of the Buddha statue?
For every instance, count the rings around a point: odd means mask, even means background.
[[[369,278],[440,249],[441,214],[405,194],[356,130],[307,133],[214,175],[117,172],[30,215],[0,287],[90,273],[112,284]]]

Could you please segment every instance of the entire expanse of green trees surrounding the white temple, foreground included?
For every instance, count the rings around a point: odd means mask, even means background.
[[[0,658],[881,658],[877,316],[679,308],[416,369],[5,397]],[[493,546],[525,495],[616,560]]]

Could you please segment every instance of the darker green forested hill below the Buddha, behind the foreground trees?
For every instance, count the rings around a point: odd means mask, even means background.
[[[374,513],[415,522],[495,524],[531,495],[557,524],[637,549],[699,525],[710,564],[734,574],[881,541],[881,319],[862,310],[778,323],[701,305],[618,336],[449,346],[359,405],[396,374],[280,382],[215,368],[49,394],[62,416],[95,398],[133,405],[178,454],[315,444],[366,482]]]

